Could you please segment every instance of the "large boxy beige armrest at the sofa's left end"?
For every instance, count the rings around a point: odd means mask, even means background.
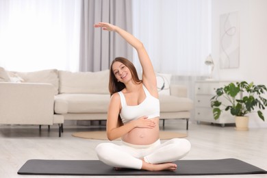
[[[51,84],[0,82],[0,124],[53,125]]]

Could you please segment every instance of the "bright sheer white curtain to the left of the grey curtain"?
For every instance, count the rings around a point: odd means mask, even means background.
[[[79,68],[80,0],[1,0],[0,66]]]

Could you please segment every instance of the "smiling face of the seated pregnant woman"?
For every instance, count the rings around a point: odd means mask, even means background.
[[[121,62],[114,62],[112,65],[112,71],[116,79],[124,84],[131,79],[131,71]]]

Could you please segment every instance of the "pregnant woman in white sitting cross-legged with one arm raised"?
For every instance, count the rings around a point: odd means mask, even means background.
[[[191,144],[183,138],[160,141],[160,101],[153,65],[140,40],[109,23],[94,27],[114,31],[136,49],[142,66],[142,80],[136,68],[125,58],[115,58],[110,66],[110,105],[107,112],[107,138],[121,138],[121,144],[101,143],[99,160],[121,168],[176,170],[174,161],[184,157]]]

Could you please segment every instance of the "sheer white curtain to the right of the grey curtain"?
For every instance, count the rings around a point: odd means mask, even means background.
[[[208,75],[204,61],[211,52],[209,0],[135,0],[133,34],[144,43],[155,72],[170,73],[172,83],[188,86]],[[133,62],[140,65],[136,53]]]

